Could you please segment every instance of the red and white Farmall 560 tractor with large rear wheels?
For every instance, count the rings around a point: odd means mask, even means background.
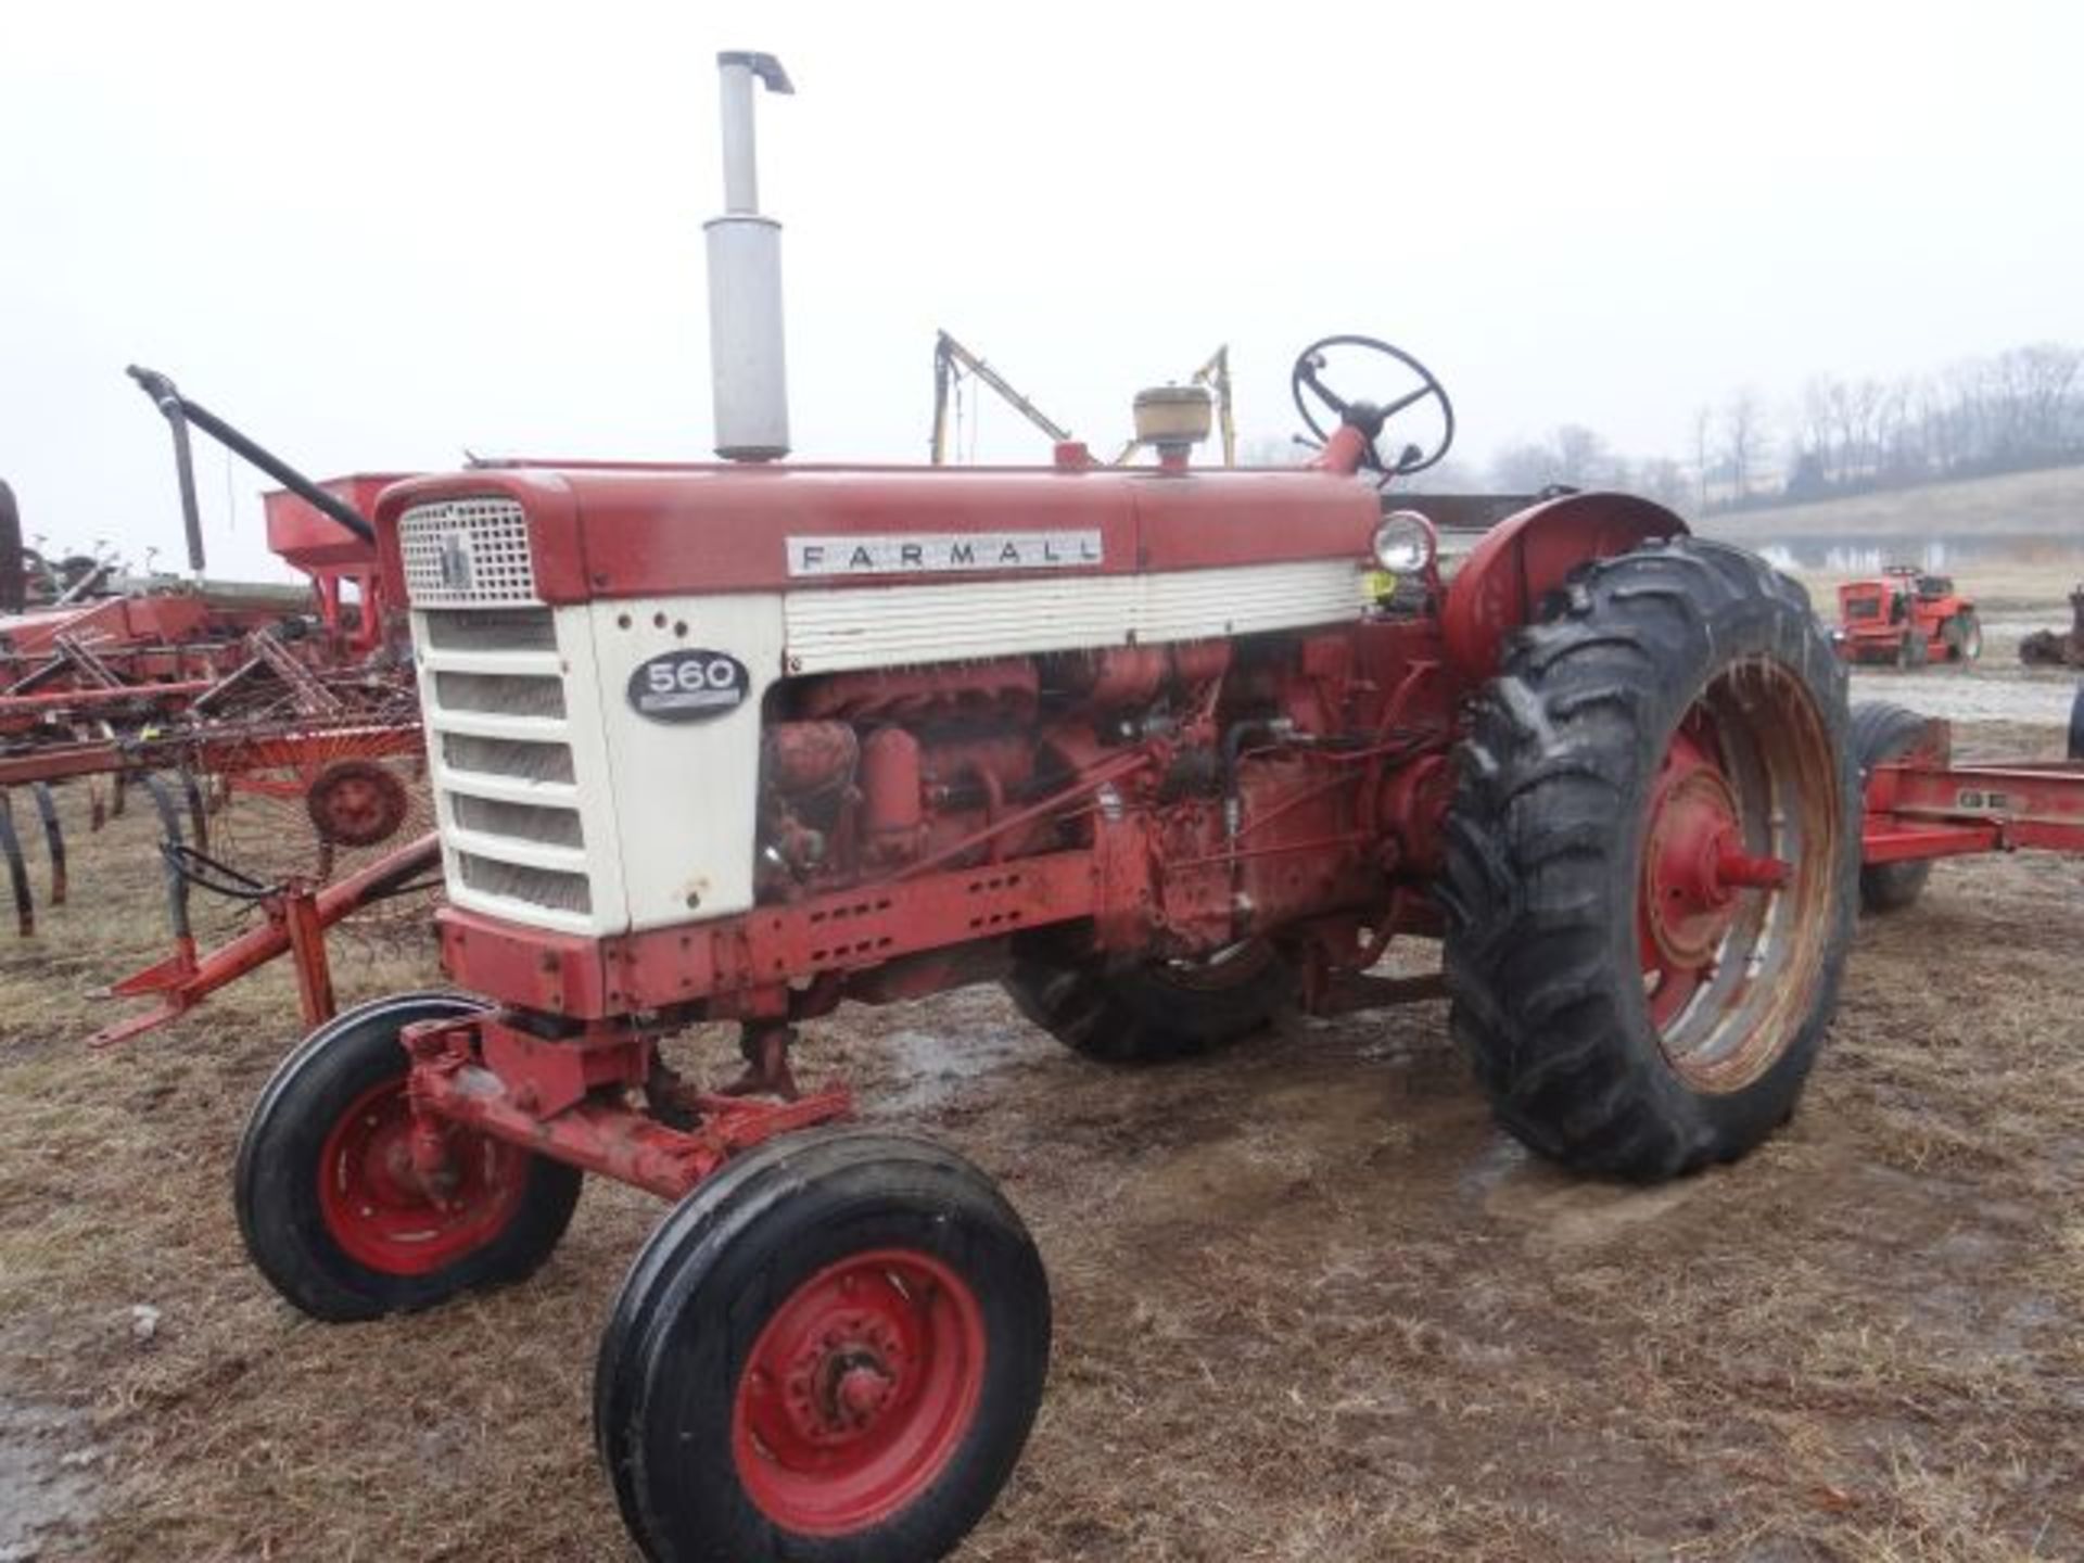
[[[725,58],[742,158],[763,75]],[[765,248],[731,167],[713,246]],[[719,354],[719,446],[773,456],[744,379],[777,390],[779,319],[734,265],[717,336],[769,342]],[[1330,383],[1353,344],[1296,358],[1325,421],[1298,471],[1196,473],[1155,429],[1140,471],[388,490],[456,990],[338,1017],[267,1086],[235,1180],[267,1280],[321,1319],[419,1309],[542,1265],[584,1171],[648,1188],[673,1209],[594,1400],[642,1548],[923,1559],[1021,1453],[1048,1286],[982,1171],[796,1090],[840,1004],[1002,982],[1098,1065],[1155,1063],[1409,996],[1371,967],[1444,938],[1453,1032],[1540,1152],[1661,1180],[1771,1134],[1857,898],[1807,598],[1617,494],[1519,511],[1448,579],[1380,492],[1442,454],[1446,392],[1392,348],[1382,400]],[[719,1021],[746,1069],[702,1092],[659,1044]]]

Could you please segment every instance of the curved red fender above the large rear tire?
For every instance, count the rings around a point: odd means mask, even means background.
[[[1613,559],[1686,523],[1634,494],[1563,494],[1519,511],[1469,550],[1440,609],[1448,661],[1469,679],[1498,671],[1505,638],[1588,559]]]

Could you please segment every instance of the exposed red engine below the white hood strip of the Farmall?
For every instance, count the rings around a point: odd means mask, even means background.
[[[784,681],[763,727],[759,900],[1090,850],[1096,821],[1134,811],[1159,886],[1136,929],[1150,952],[1369,904],[1384,863],[1348,759],[1365,746],[1350,650],[1271,636]],[[1080,786],[1132,744],[1163,744],[1163,769]]]

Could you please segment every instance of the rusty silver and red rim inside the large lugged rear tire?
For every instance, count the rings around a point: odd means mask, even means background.
[[[1771,661],[1717,673],[1651,786],[1636,894],[1644,1009],[1690,1088],[1742,1090],[1807,1023],[1844,829],[1801,677]]]

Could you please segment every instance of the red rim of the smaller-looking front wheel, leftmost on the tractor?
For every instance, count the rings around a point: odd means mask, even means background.
[[[438,1130],[442,1167],[413,1165],[404,1082],[363,1092],[325,1136],[319,1211],[340,1250],[386,1275],[425,1275],[492,1242],[527,1188],[527,1152],[454,1125]]]

